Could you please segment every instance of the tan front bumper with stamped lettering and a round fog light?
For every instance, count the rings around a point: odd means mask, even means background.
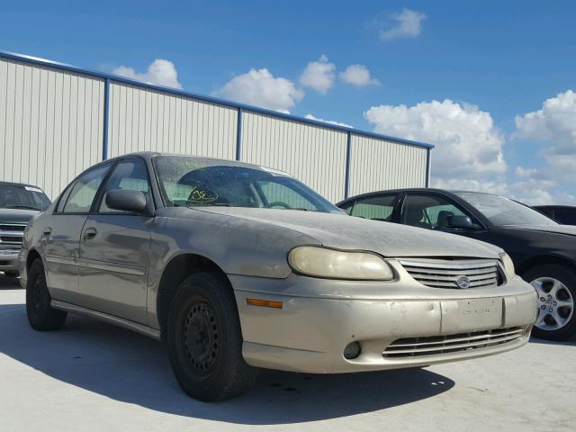
[[[519,277],[477,290],[406,282],[395,282],[387,290],[380,284],[380,295],[367,298],[356,293],[374,293],[378,283],[299,275],[283,280],[229,278],[247,363],[294,372],[363,372],[490,356],[525,345],[537,311],[534,288]],[[310,284],[318,295],[298,295]],[[248,306],[247,298],[283,302],[283,309]],[[504,336],[492,338],[492,332]],[[344,349],[355,341],[361,354],[347,360]],[[389,350],[399,345],[401,351],[390,356]]]

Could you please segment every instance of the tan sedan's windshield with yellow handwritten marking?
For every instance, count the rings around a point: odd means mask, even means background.
[[[167,206],[226,206],[342,211],[290,175],[259,166],[201,157],[154,158]]]

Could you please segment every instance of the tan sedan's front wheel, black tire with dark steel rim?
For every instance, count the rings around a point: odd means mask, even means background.
[[[238,307],[222,275],[199,273],[180,284],[168,313],[166,345],[178,383],[194,399],[230,399],[256,379],[257,368],[242,356]]]

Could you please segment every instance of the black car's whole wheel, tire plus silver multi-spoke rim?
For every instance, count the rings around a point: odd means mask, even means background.
[[[536,338],[564,340],[576,333],[576,274],[566,266],[545,265],[529,269],[524,279],[538,293]]]

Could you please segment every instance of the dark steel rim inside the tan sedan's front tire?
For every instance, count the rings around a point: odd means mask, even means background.
[[[219,352],[219,336],[218,323],[210,304],[194,303],[184,322],[184,350],[197,374],[211,373]]]

